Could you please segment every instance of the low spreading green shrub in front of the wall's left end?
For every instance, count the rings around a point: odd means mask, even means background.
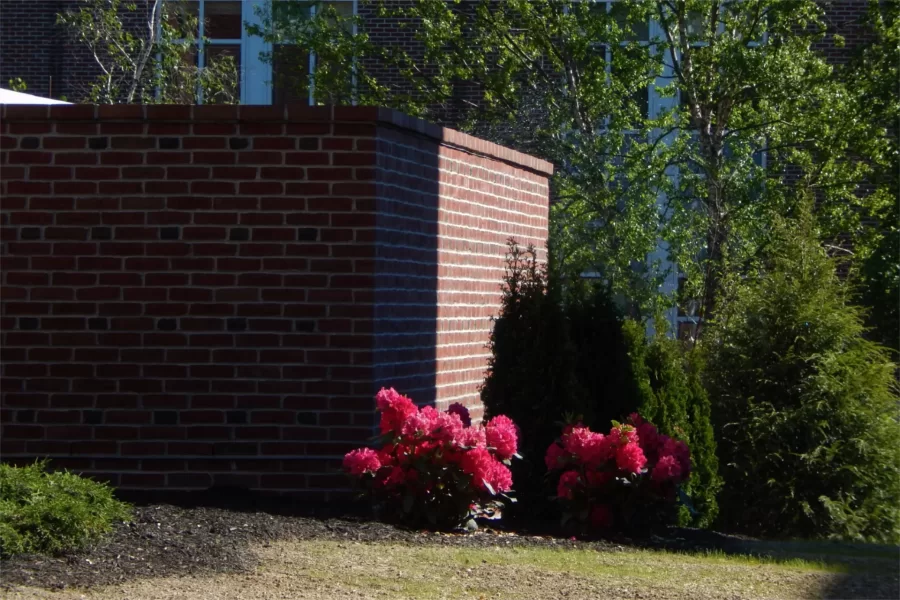
[[[130,507],[112,489],[46,461],[26,467],[0,464],[0,556],[77,550],[97,541]]]

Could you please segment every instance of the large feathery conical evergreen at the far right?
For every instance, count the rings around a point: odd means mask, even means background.
[[[776,222],[765,260],[730,281],[707,387],[721,524],[777,537],[900,539],[894,365],[865,338],[809,211]]]

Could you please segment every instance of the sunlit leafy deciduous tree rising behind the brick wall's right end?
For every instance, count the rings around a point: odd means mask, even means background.
[[[255,33],[327,56],[313,74],[322,101],[439,118],[456,82],[477,83],[484,102],[470,129],[557,166],[560,270],[598,272],[644,318],[671,305],[660,289],[676,270],[711,317],[725,274],[752,261],[772,214],[789,211],[786,188],[817,192],[832,238],[860,238],[862,217],[883,203],[856,193],[883,158],[883,128],[861,118],[814,49],[826,35],[814,0],[372,4],[414,29],[418,46],[379,45],[363,21],[328,7],[312,18],[264,10]],[[386,70],[405,80],[380,78]]]

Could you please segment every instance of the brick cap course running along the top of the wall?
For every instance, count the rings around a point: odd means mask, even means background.
[[[3,105],[6,121],[144,121],[144,122],[372,122],[417,133],[473,154],[495,158],[549,177],[553,165],[545,160],[475,136],[378,106],[253,106],[253,105]]]

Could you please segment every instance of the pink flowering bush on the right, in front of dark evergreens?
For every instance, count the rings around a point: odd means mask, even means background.
[[[660,434],[632,413],[628,423],[613,423],[609,433],[581,424],[567,426],[544,457],[564,521],[583,530],[653,526],[675,515],[678,486],[691,472],[684,442]]]

